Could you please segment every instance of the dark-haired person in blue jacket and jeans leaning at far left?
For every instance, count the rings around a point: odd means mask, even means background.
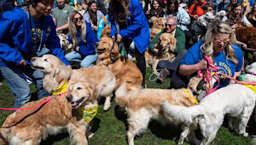
[[[0,71],[15,96],[15,107],[20,107],[31,97],[26,79],[31,78],[36,84],[38,99],[49,95],[42,86],[43,73],[28,65],[31,57],[48,52],[59,57],[67,66],[69,63],[61,50],[50,16],[54,1],[32,0],[28,11],[10,9],[14,1],[3,1],[0,6],[4,11],[0,17]]]

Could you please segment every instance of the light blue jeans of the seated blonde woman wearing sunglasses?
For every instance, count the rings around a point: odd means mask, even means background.
[[[65,55],[65,57],[69,62],[71,62],[71,61],[80,62],[81,68],[93,66],[95,64],[96,60],[98,59],[98,55],[96,53],[95,55],[87,55],[82,60],[82,56],[80,55],[80,53],[78,53],[76,51],[67,53]]]

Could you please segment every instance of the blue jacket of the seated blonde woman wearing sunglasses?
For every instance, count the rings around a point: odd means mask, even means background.
[[[79,52],[86,57],[87,55],[94,55],[95,54],[95,43],[98,42],[97,36],[95,32],[92,30],[92,27],[88,22],[86,22],[86,42],[81,41],[81,32],[77,31],[77,39],[79,40],[78,46],[79,46]],[[68,39],[70,43],[72,43],[72,38],[70,37],[70,34],[68,34]]]

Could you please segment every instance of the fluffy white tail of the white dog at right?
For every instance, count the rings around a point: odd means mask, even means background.
[[[204,114],[204,108],[200,105],[192,107],[175,106],[169,104],[167,101],[163,102],[164,113],[172,118],[174,123],[193,123],[193,119]]]

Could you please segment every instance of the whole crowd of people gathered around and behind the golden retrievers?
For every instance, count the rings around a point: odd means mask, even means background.
[[[143,75],[145,87],[145,51],[158,53],[156,44],[164,32],[177,39],[173,62],[161,60],[160,83],[172,78],[170,88],[182,88],[198,70],[205,70],[204,56],[213,59],[222,72],[236,78],[241,74],[243,53],[236,40],[236,27],[255,27],[254,0],[3,0],[0,7],[0,70],[15,96],[15,107],[31,97],[28,78],[35,80],[38,99],[47,94],[42,87],[42,72],[29,66],[34,56],[51,53],[67,67],[79,62],[81,67],[93,66],[97,60],[95,44],[106,25],[111,26],[111,37],[124,43],[125,51],[134,50],[136,64]],[[219,20],[201,25],[207,13],[225,13]],[[19,16],[19,17],[17,17]],[[164,17],[165,28],[150,40],[151,17]],[[203,30],[196,30],[203,27]],[[58,34],[67,35],[72,52],[61,49]],[[134,45],[131,45],[134,44]],[[120,68],[122,69],[122,68]],[[221,85],[233,83],[221,76]]]

